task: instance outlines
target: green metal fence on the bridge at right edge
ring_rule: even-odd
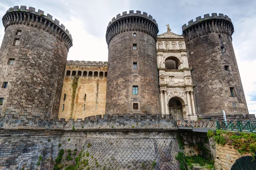
[[[216,121],[217,129],[256,133],[256,121]]]

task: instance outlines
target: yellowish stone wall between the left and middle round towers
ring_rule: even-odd
[[[58,117],[84,119],[93,115],[103,116],[106,105],[107,62],[105,64],[74,62],[76,61],[68,61],[66,65]],[[70,76],[67,76],[67,71],[70,71]],[[76,71],[75,76],[72,76],[73,71]]]

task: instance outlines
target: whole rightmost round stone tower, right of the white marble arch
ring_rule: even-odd
[[[182,26],[200,116],[248,114],[232,45],[234,27],[227,15],[213,13]]]

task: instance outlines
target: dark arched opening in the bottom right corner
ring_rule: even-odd
[[[256,170],[256,160],[253,161],[252,156],[242,156],[236,159],[231,170]]]

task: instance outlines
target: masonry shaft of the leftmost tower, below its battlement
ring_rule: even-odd
[[[21,35],[15,35],[21,30]],[[20,38],[20,45],[13,45]],[[49,32],[28,25],[6,28],[0,48],[1,113],[29,116],[58,116],[67,59],[64,41]],[[8,65],[8,59],[15,59]]]

